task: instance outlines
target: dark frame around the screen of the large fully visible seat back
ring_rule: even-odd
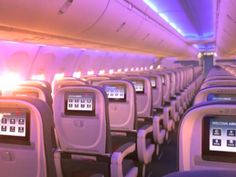
[[[69,95],[91,95],[92,97],[92,111],[83,111],[83,110],[68,110],[67,103],[68,103],[68,96]],[[68,116],[95,116],[96,110],[96,95],[93,92],[66,92],[64,95],[64,114]]]

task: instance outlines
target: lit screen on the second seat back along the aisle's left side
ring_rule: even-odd
[[[110,101],[126,101],[126,87],[124,84],[104,85],[107,97]]]

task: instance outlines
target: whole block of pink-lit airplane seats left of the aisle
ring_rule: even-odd
[[[1,172],[9,177],[145,176],[202,80],[201,67],[185,67],[65,77],[52,87],[25,81],[11,96],[0,97]]]

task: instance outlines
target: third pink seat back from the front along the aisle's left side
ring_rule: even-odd
[[[136,90],[137,116],[148,117],[152,115],[152,86],[148,77],[127,76]]]

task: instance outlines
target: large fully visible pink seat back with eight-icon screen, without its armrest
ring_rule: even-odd
[[[55,93],[54,122],[65,152],[110,153],[106,93],[94,86],[66,86]]]

